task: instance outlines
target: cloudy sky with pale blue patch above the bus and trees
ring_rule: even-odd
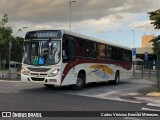
[[[147,12],[160,8],[160,0],[75,0],[71,3],[71,30],[130,48],[141,47],[141,37],[157,36]],[[70,23],[70,0],[0,0],[0,19],[8,14],[7,26],[27,31],[66,29]]]

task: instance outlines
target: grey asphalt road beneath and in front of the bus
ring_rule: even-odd
[[[69,87],[46,88],[40,84],[19,81],[0,81],[0,111],[159,111],[160,107],[149,106],[144,101],[135,101],[126,96],[139,95],[141,89],[155,85],[153,81],[122,80],[119,85],[109,83],[89,84],[84,90],[74,91]],[[145,91],[143,91],[145,93]],[[56,120],[151,120],[159,117],[53,117],[38,119]],[[2,118],[0,118],[2,119]],[[7,118],[5,118],[7,119]],[[10,118],[8,118],[10,119]],[[25,118],[12,118],[25,119]],[[29,118],[35,119],[35,118]]]

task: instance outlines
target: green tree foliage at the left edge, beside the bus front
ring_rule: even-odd
[[[22,59],[23,38],[21,37],[14,38],[14,36],[12,35],[13,32],[12,28],[8,27],[6,25],[7,23],[8,23],[8,15],[4,14],[3,18],[0,21],[0,66],[2,59],[6,59],[7,61],[9,59],[10,41],[12,42],[11,61],[21,62]]]

